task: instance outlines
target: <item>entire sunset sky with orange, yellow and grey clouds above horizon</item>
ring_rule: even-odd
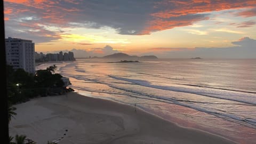
[[[37,52],[256,58],[255,0],[4,0],[4,16]]]

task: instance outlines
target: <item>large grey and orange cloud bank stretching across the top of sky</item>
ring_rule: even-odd
[[[111,27],[122,35],[146,35],[154,31],[192,25],[207,20],[202,12],[255,7],[252,0],[234,1],[30,1],[5,0],[6,36],[49,42],[65,33],[62,28]],[[251,9],[248,13],[254,13]],[[241,15],[246,15],[245,12]],[[247,14],[251,15],[251,14]],[[49,29],[47,27],[58,27]],[[20,30],[20,31],[19,31]],[[31,32],[31,30],[33,32]],[[50,37],[51,36],[51,37]]]

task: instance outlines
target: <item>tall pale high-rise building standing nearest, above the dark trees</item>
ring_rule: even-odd
[[[5,38],[5,47],[7,65],[35,73],[35,43],[31,40],[9,37]]]

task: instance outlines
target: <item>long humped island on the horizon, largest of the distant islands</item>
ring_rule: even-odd
[[[114,53],[110,55],[106,55],[105,57],[102,57],[105,59],[157,59],[155,55],[143,55],[141,57],[138,57],[137,55],[128,55],[126,53]]]

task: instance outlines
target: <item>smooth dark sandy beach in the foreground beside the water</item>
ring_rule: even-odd
[[[59,143],[234,143],[207,132],[180,127],[132,106],[75,92],[15,105],[9,133],[39,144]]]

